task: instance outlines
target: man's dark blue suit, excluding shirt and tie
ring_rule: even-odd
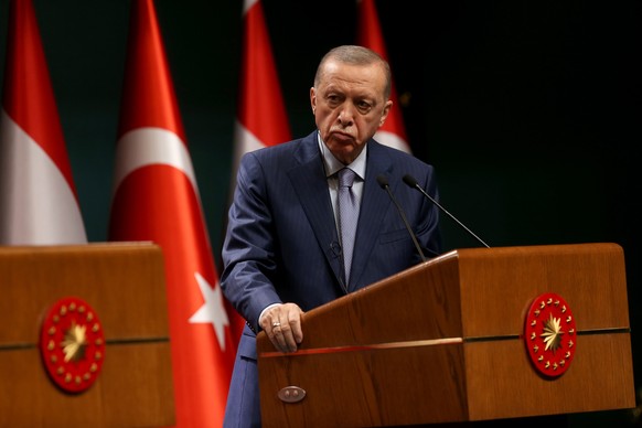
[[[268,304],[295,302],[308,311],[421,261],[377,175],[388,179],[426,257],[440,253],[438,208],[402,181],[409,173],[438,199],[432,167],[375,140],[367,145],[347,286],[341,280],[341,249],[317,131],[242,159],[222,254],[221,287],[247,327],[229,388],[226,427],[259,424],[255,332]]]

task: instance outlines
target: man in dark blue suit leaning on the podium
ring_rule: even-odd
[[[245,318],[227,398],[225,427],[259,427],[256,333],[296,352],[301,315],[432,257],[441,250],[438,208],[404,183],[417,179],[437,199],[431,165],[373,139],[393,101],[386,61],[361,46],[321,60],[310,89],[317,130],[244,156],[223,246],[221,287]],[[338,216],[338,171],[356,173],[359,221],[345,259]],[[421,246],[377,178],[384,176]],[[351,267],[346,277],[344,265]],[[394,320],[394,313],[390,313]]]

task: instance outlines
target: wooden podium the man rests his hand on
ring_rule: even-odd
[[[526,315],[546,293],[566,301],[577,327],[573,361],[555,376],[539,372],[524,338]],[[616,244],[453,250],[307,312],[303,334],[292,354],[275,352],[265,332],[257,336],[264,427],[635,407]]]

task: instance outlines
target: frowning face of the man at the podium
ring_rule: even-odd
[[[393,101],[384,99],[385,74],[378,65],[329,61],[310,89],[314,121],[328,149],[344,164],[352,162],[384,124]]]

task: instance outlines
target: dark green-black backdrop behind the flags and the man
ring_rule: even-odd
[[[4,46],[8,0],[0,4]],[[34,4],[88,237],[106,240],[129,2]],[[242,1],[156,4],[218,263]],[[491,246],[624,248],[640,389],[642,2],[376,4],[413,151],[436,167],[442,205]],[[355,7],[264,0],[264,9],[291,131],[303,136],[313,127],[308,94],[317,62],[355,41]],[[442,229],[445,250],[479,246],[446,216]],[[608,376],[606,367],[596,371]],[[622,410],[570,420],[625,426],[630,417]]]

